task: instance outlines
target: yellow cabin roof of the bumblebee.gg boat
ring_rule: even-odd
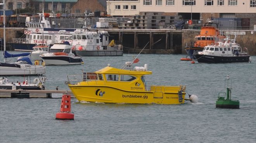
[[[130,71],[126,69],[117,69],[114,67],[104,67],[103,69],[100,69],[99,71],[96,71],[98,73],[104,73],[104,74],[152,74],[152,71]]]

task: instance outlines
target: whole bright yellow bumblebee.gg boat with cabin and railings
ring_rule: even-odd
[[[95,72],[67,76],[67,85],[78,101],[99,103],[183,104],[186,86],[146,86],[144,67],[131,67],[132,62],[117,69],[108,65]],[[74,82],[74,83],[72,83]],[[194,96],[194,95],[193,95]]]

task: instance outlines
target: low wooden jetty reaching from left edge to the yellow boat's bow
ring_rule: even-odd
[[[52,98],[52,93],[66,94],[66,90],[0,89],[0,98]],[[74,98],[71,91],[67,91],[67,94]]]

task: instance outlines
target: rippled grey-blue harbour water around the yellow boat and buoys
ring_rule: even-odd
[[[73,98],[74,120],[60,121],[55,114],[61,95],[54,99],[1,98],[0,142],[255,143],[256,56],[251,56],[252,63],[228,64],[190,64],[180,61],[181,57],[185,55],[142,54],[135,66],[148,64],[153,72],[146,76],[147,86],[186,85],[187,94],[197,95],[199,103],[103,104],[79,103]],[[121,67],[132,55],[83,60],[82,65],[47,66],[46,88],[69,90],[64,84],[66,75],[97,71],[107,64]],[[215,108],[218,93],[226,92],[227,75],[232,79],[232,99],[240,100],[240,109]]]

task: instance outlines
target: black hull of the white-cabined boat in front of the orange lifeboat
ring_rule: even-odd
[[[229,63],[229,62],[249,62],[250,56],[209,56],[209,55],[201,55],[194,54],[194,57],[197,59],[199,63]]]

